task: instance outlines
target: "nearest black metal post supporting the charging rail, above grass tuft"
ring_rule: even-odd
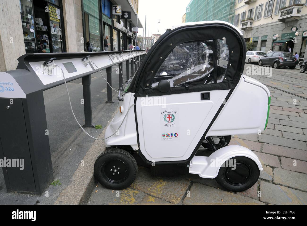
[[[82,127],[95,128],[92,120],[91,75],[82,77],[82,86],[84,100],[84,125]]]

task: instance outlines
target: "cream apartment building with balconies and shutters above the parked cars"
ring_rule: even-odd
[[[234,25],[254,50],[297,52],[307,58],[306,0],[236,0]]]

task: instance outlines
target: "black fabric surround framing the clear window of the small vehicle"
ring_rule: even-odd
[[[191,85],[189,87],[173,87],[166,93],[161,93],[156,88],[150,87],[157,70],[169,53],[179,44],[201,40],[223,40],[229,50],[229,60],[225,77],[226,81],[211,84]],[[215,41],[216,42],[216,41]],[[215,50],[213,50],[215,51]],[[143,59],[136,76],[128,89],[134,92],[136,97],[159,96],[167,94],[198,92],[217,89],[233,89],[243,73],[246,56],[246,44],[243,37],[233,27],[223,23],[212,23],[203,25],[181,26],[174,30],[167,30],[153,45],[145,59]],[[161,58],[162,57],[162,58]],[[216,62],[216,53],[213,61]],[[215,77],[216,81],[216,77]]]

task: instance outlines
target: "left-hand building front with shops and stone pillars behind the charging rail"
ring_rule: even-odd
[[[0,71],[16,69],[26,53],[103,51],[106,36],[108,51],[127,50],[136,45],[136,24],[142,28],[138,0],[11,0],[0,7]]]

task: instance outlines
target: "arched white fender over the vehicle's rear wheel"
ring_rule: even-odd
[[[218,149],[208,157],[194,156],[190,162],[189,173],[198,174],[203,178],[215,178],[223,163],[236,156],[250,158],[258,165],[259,170],[263,170],[257,155],[250,149],[240,145],[228,145]]]

